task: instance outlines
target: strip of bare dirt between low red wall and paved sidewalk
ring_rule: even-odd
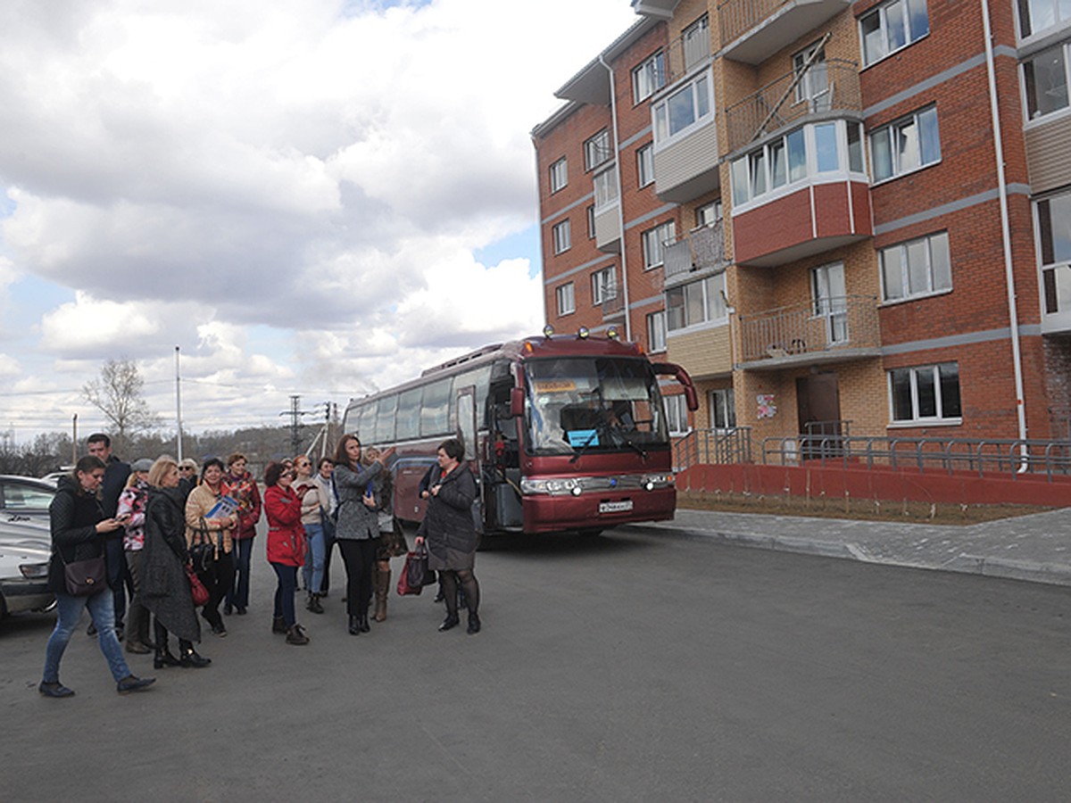
[[[827,497],[765,496],[677,491],[677,506],[725,513],[765,513],[816,518],[854,518],[869,521],[914,521],[935,525],[976,525],[1014,516],[1044,513],[1056,507],[1029,504],[946,504],[904,500],[830,499]]]

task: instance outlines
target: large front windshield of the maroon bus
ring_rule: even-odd
[[[645,452],[667,446],[662,394],[643,359],[525,362],[528,444],[536,454]]]

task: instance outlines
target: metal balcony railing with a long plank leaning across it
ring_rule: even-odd
[[[729,151],[813,115],[861,111],[859,65],[831,59],[793,71],[725,109]]]

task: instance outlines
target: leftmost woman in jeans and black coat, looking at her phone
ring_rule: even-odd
[[[82,457],[70,476],[61,478],[56,496],[48,506],[51,525],[52,557],[48,563],[48,589],[56,594],[56,630],[45,647],[45,671],[37,691],[46,697],[72,697],[74,692],[60,683],[60,660],[71,634],[78,626],[81,612],[89,615],[96,627],[96,641],[108,662],[111,677],[120,693],[138,692],[153,678],[131,675],[122,648],[116,637],[116,610],[107,571],[100,577],[92,593],[74,593],[69,588],[66,569],[74,564],[104,558],[104,535],[123,526],[121,518],[108,518],[101,509],[99,491],[104,481],[104,461],[92,455]],[[86,576],[75,570],[76,575]],[[77,590],[80,591],[80,590]]]

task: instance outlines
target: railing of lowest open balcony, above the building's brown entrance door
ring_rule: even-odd
[[[788,361],[834,350],[878,349],[877,299],[842,296],[740,316],[743,362]]]

